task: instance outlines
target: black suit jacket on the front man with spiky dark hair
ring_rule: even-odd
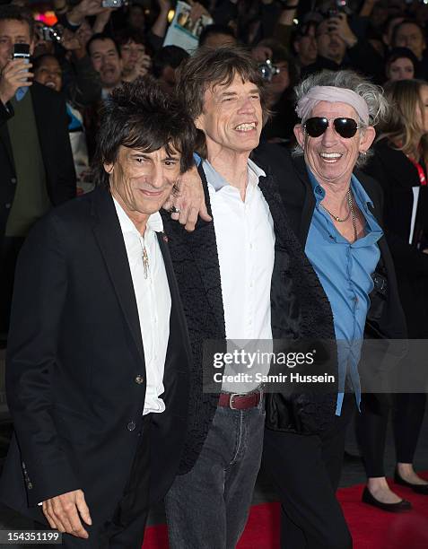
[[[169,488],[188,414],[190,348],[164,235],[170,284],[166,410],[153,414],[151,500]],[[143,376],[144,382],[137,379]],[[37,505],[83,489],[94,523],[122,496],[141,430],[144,349],[127,251],[107,190],[59,206],[31,231],[18,261],[6,356],[13,438],[1,500]]]

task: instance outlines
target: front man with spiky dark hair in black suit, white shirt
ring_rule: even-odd
[[[179,465],[190,351],[158,210],[195,135],[152,80],[116,90],[99,186],[38,222],[18,260],[1,497],[67,547],[141,546]]]

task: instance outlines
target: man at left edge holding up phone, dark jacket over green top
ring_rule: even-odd
[[[75,196],[66,103],[31,83],[14,44],[34,48],[34,21],[17,5],[0,9],[0,333],[7,331],[16,257],[31,225]],[[30,79],[30,80],[29,80]],[[31,85],[32,84],[32,85]]]

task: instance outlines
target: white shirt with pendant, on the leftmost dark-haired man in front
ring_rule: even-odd
[[[165,403],[163,371],[170,338],[170,286],[156,232],[163,230],[159,212],[147,221],[144,236],[136,230],[127,213],[114,200],[120,228],[127,248],[127,260],[134,284],[135,300],[143,339],[146,390],[144,415],[161,413]],[[148,267],[144,272],[143,250],[147,252]]]

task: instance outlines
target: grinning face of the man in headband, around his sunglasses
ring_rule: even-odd
[[[354,118],[359,122],[354,107],[338,102],[319,101],[312,109],[310,117]],[[330,120],[328,129],[319,137],[307,135],[300,124],[294,127],[294,135],[303,149],[306,163],[319,183],[347,184],[358,154],[369,149],[375,131],[368,126],[363,131],[358,129],[354,137],[346,139],[336,133],[333,120]]]

